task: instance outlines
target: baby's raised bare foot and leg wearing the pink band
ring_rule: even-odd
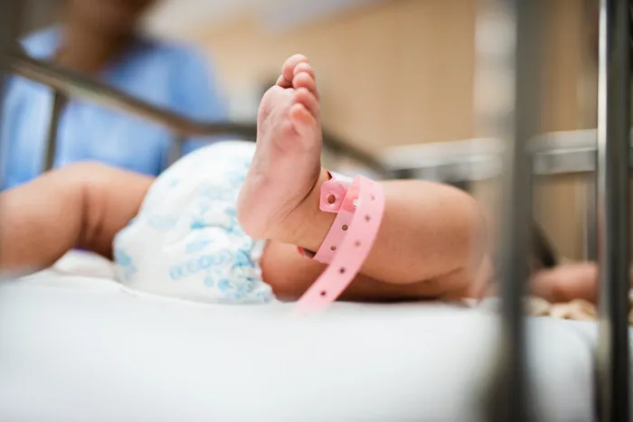
[[[241,190],[241,224],[254,238],[316,251],[335,215],[318,209],[320,187],[328,176],[320,163],[314,71],[305,58],[295,56],[284,65],[278,85],[262,99],[258,125],[257,150]],[[467,291],[484,255],[484,219],[477,203],[436,183],[394,181],[383,188],[383,224],[362,269],[364,279],[426,283],[427,291],[438,295]],[[270,259],[275,256],[280,262],[269,264],[274,271],[270,277],[279,275],[275,267],[296,262],[280,253]],[[266,273],[266,263],[262,267]],[[315,274],[307,278],[314,280]],[[265,281],[274,286],[279,280]]]

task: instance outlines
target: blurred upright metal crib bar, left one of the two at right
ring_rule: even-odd
[[[487,420],[499,422],[534,419],[523,296],[530,273],[533,196],[527,146],[538,131],[542,9],[542,0],[488,1],[477,23],[479,123],[505,146],[497,251],[501,339],[486,407]]]

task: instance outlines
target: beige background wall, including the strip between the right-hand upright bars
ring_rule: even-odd
[[[581,0],[551,0],[543,23],[543,130],[590,127],[594,98],[581,96],[586,34]],[[385,0],[288,31],[243,15],[198,33],[229,93],[279,72],[288,55],[313,62],[324,123],[377,151],[477,136],[473,112],[475,0]],[[587,79],[584,79],[585,83]],[[588,117],[589,116],[589,117]],[[567,256],[581,251],[578,181],[538,183],[535,211]]]

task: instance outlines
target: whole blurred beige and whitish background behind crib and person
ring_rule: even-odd
[[[26,3],[23,33],[52,24],[61,1]],[[543,132],[596,126],[596,3],[548,2]],[[144,24],[213,58],[231,119],[254,119],[284,59],[307,55],[324,126],[380,155],[477,137],[477,7],[476,0],[163,0]],[[582,253],[583,184],[570,175],[537,186],[537,218],[569,258]]]

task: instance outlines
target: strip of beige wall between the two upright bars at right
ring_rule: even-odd
[[[554,0],[545,26],[543,131],[595,126],[595,98],[582,89],[591,68],[590,33],[582,0]],[[559,176],[536,183],[535,214],[555,247],[570,258],[582,252],[584,178]]]

